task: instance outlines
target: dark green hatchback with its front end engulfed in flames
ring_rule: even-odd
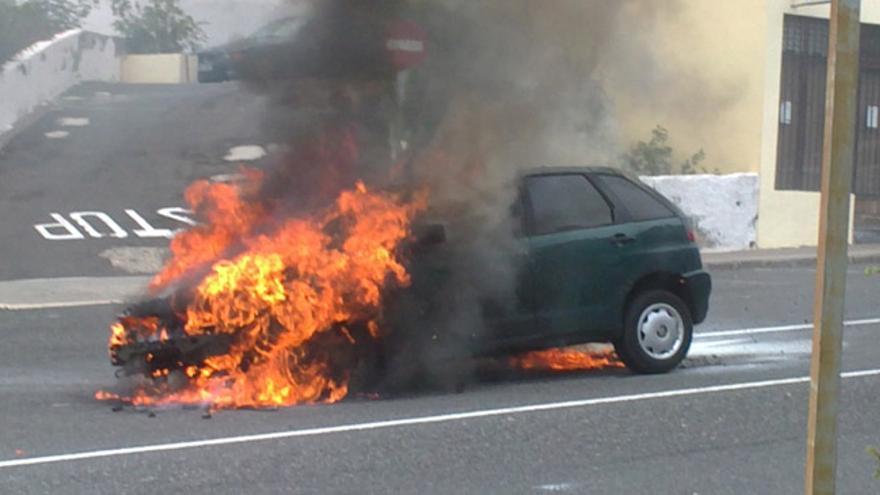
[[[688,221],[613,169],[543,168],[511,184],[509,242],[470,270],[471,280],[492,278],[493,264],[510,276],[478,298],[453,268],[468,239],[454,218],[428,222],[422,194],[358,184],[320,215],[279,224],[244,199],[247,186],[188,191],[206,223],[173,240],[157,297],[112,328],[113,364],[153,379],[124,399],[333,402],[357,373],[585,342],[611,342],[631,370],[661,373],[684,359],[708,310]],[[460,318],[459,298],[477,299],[476,319]]]

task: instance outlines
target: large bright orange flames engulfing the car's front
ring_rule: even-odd
[[[318,214],[279,221],[248,199],[261,180],[249,171],[237,185],[194,183],[185,198],[204,223],[174,238],[171,260],[151,283],[154,292],[180,291],[178,284],[197,280],[178,315],[183,333],[229,336],[229,351],[183,369],[182,386],[157,380],[124,397],[96,397],[227,408],[335,402],[347,394],[351,366],[340,356],[357,345],[348,328],[378,337],[383,289],[409,283],[398,247],[424,197],[405,201],[358,183]],[[167,335],[155,318],[123,323],[111,329],[111,354]]]

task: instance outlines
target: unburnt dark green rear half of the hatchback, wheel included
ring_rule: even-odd
[[[534,192],[541,187],[546,189],[543,200]],[[467,349],[476,355],[613,342],[636,371],[662,372],[675,367],[690,346],[693,324],[706,318],[712,285],[685,216],[638,179],[614,169],[542,168],[522,174],[518,188],[517,204],[512,208],[517,231],[513,248],[516,276],[512,280],[515,287],[509,291],[510,299],[515,300],[481,301],[483,329],[460,331],[455,338],[469,339]],[[589,193],[592,202],[585,202],[581,216],[588,216],[588,209],[595,207],[601,218],[577,221],[573,217],[571,225],[548,226],[565,223],[567,219],[554,218],[554,214],[567,215],[562,210],[567,204],[577,209],[577,197],[569,201],[565,195],[580,189]],[[552,208],[538,204],[541,201],[558,203],[555,213],[547,213]],[[404,305],[410,314],[404,326],[424,331],[426,325],[436,325],[433,322],[442,319],[434,315],[450,311],[444,299],[468,297],[459,294],[457,287],[438,289],[443,286],[441,280],[453,273],[448,258],[453,255],[443,252],[438,246],[436,251],[428,249],[415,256],[413,287],[408,291],[418,294],[415,299],[422,303],[419,306],[412,297],[407,298]],[[634,304],[641,306],[634,308]],[[419,306],[415,312],[413,305]],[[675,344],[674,355],[659,360],[642,356],[645,362],[640,363],[639,356],[626,355],[633,351],[628,351],[627,345],[633,347],[633,342],[644,340],[645,328],[653,325],[663,331],[666,324],[650,312],[647,316],[631,315],[650,308],[679,316],[682,341]],[[660,316],[665,318],[665,313]],[[628,323],[628,318],[636,323]],[[441,326],[428,329],[434,341],[448,338],[445,334],[454,325]],[[642,339],[636,335],[632,337],[635,341],[627,344],[628,326]],[[637,349],[633,351],[636,354]]]

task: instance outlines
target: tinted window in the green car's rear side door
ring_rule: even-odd
[[[608,202],[584,175],[538,175],[526,178],[525,185],[532,235],[613,223]]]

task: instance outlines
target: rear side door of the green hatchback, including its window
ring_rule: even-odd
[[[535,337],[603,338],[617,315],[607,304],[620,266],[612,206],[581,173],[525,178]]]

